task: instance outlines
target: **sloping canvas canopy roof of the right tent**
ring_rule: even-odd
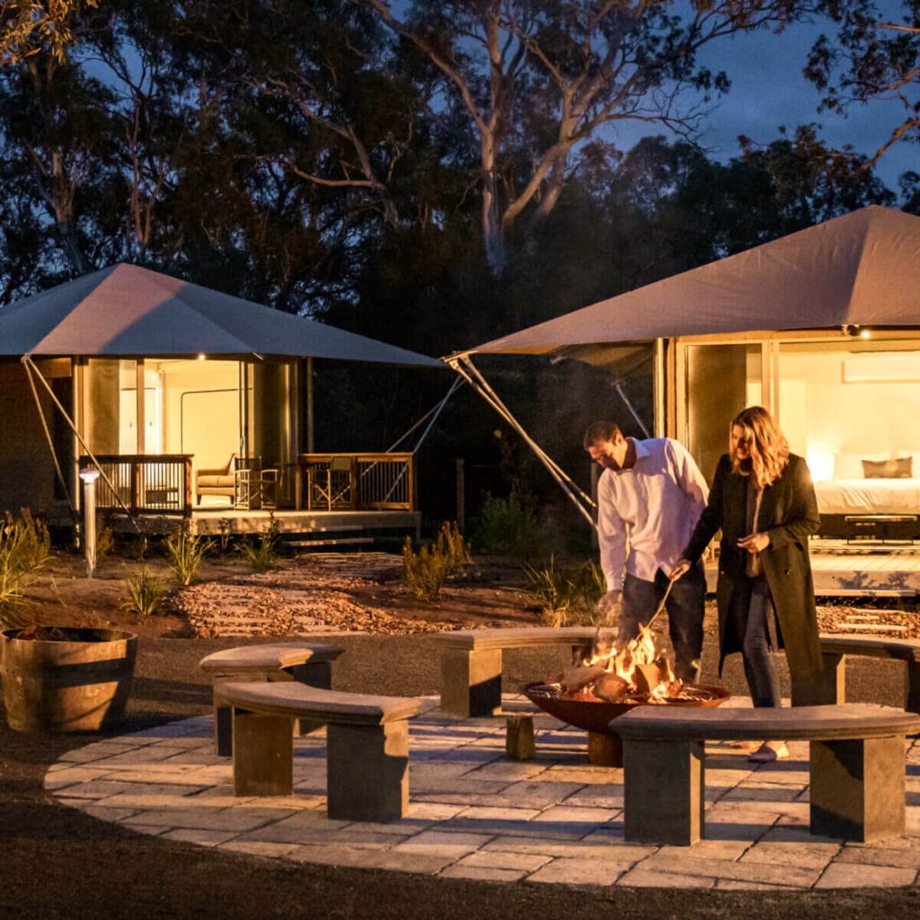
[[[920,217],[862,208],[461,353],[844,325],[920,327]]]

